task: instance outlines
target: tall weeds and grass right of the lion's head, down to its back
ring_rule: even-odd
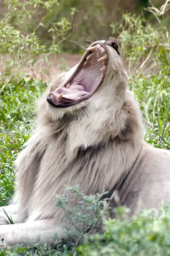
[[[136,94],[146,124],[144,139],[170,149],[170,31],[154,28],[142,15],[124,14],[119,32],[130,89]]]

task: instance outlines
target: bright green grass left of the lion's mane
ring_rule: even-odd
[[[13,164],[34,129],[34,102],[45,83],[22,79],[8,84],[0,97],[0,206],[14,191]]]

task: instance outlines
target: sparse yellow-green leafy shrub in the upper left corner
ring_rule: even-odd
[[[60,44],[72,33],[73,17],[77,12],[75,8],[71,8],[70,20],[62,17],[58,22],[51,24],[48,33],[52,41],[47,51],[47,46],[40,44],[37,29],[44,26],[43,22],[48,12],[51,12],[53,7],[59,3],[54,0],[29,0],[22,3],[19,0],[6,0],[6,2],[9,11],[5,18],[0,20],[0,56],[2,59],[0,61],[2,70],[0,93],[10,81],[14,83],[17,79],[23,79],[23,77],[28,79],[30,76],[37,78],[36,67],[39,68],[39,75],[44,79],[45,69],[42,64],[45,62],[48,66],[48,57],[60,52]],[[35,16],[40,8],[45,10],[45,15],[40,20],[36,20]]]

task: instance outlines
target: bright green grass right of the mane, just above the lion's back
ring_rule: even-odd
[[[144,117],[144,140],[155,147],[170,149],[170,78],[141,75],[130,87]]]

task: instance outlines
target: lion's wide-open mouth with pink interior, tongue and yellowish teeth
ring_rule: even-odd
[[[102,85],[107,62],[108,55],[100,44],[89,47],[71,77],[56,90],[51,86],[48,103],[65,108],[90,98]]]

